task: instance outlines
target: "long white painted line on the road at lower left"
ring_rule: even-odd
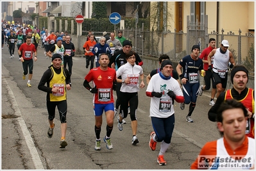
[[[13,106],[13,109],[15,110],[15,115],[18,117],[17,120],[19,122],[19,125],[21,126],[21,130],[22,130],[22,133],[24,135],[24,139],[26,141],[28,149],[30,150],[31,159],[34,163],[35,169],[44,170],[44,166],[42,165],[42,161],[39,157],[37,149],[35,148],[35,143],[33,143],[30,131],[28,131],[28,128],[26,127],[26,123],[22,118],[21,111],[19,110],[19,106],[17,104],[17,101],[15,100],[12,89],[8,85],[6,79],[3,79],[3,77],[2,77],[2,81],[6,85],[8,95],[10,95],[10,98],[12,98],[12,106]]]

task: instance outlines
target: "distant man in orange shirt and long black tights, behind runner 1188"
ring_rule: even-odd
[[[93,69],[94,67],[94,54],[92,53],[92,49],[94,48],[94,45],[96,45],[96,42],[94,40],[94,35],[89,35],[90,40],[86,41],[83,45],[83,49],[85,51],[85,58],[86,58],[86,68],[88,69],[90,65],[90,69]]]

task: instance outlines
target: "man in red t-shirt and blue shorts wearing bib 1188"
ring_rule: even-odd
[[[101,150],[101,125],[102,125],[102,114],[105,111],[107,119],[107,134],[104,137],[104,142],[107,143],[107,149],[113,149],[113,145],[110,141],[110,134],[112,133],[114,123],[114,95],[113,90],[116,90],[116,74],[115,70],[108,67],[109,58],[108,55],[102,53],[99,55],[99,67],[91,69],[87,76],[83,86],[87,88],[93,94],[94,104],[94,116],[95,116],[95,133],[96,143],[94,149],[96,151]],[[90,87],[89,83],[92,81],[93,88]]]

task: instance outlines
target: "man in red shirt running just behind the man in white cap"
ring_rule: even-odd
[[[209,90],[210,89],[210,79],[213,79],[212,76],[212,71],[208,70],[208,61],[207,61],[207,57],[208,54],[212,51],[212,49],[216,48],[216,40],[215,38],[210,38],[209,39],[209,47],[205,48],[203,50],[203,52],[201,53],[201,55],[199,56],[199,58],[201,58],[201,60],[203,60],[203,70],[205,70],[205,85],[201,85],[201,87],[199,88],[200,92],[203,93],[203,90]],[[212,65],[213,65],[213,57],[212,57]],[[216,94],[216,85],[214,84],[214,81],[212,81],[212,94],[210,97],[210,103],[209,105],[214,106],[214,96]]]

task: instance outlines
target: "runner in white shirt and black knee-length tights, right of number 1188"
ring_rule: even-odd
[[[117,78],[117,83],[122,83],[119,98],[121,107],[119,114],[119,120],[117,127],[119,131],[123,130],[123,118],[126,118],[128,115],[128,104],[130,102],[130,118],[132,120],[132,144],[136,145],[139,143],[137,138],[137,108],[138,108],[138,92],[139,88],[144,88],[144,74],[142,67],[135,64],[135,52],[130,51],[125,54],[126,64],[122,65],[117,70],[117,77],[121,76],[121,79]],[[139,83],[141,80],[141,83]]]

